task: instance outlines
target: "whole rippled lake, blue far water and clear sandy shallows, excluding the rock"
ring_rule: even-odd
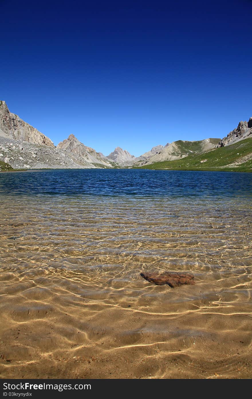
[[[13,172],[0,196],[1,376],[252,377],[252,174]]]

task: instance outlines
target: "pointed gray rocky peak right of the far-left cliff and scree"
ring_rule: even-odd
[[[80,164],[101,164],[111,167],[109,160],[103,154],[99,154],[94,148],[87,147],[82,144],[73,134],[57,145],[57,148],[64,150],[68,154],[72,154]]]

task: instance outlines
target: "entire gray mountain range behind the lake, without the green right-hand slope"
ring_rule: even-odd
[[[127,150],[117,147],[105,156],[82,144],[73,134],[55,147],[47,136],[21,120],[18,115],[11,113],[5,101],[0,101],[0,166],[9,164],[12,168],[148,167],[229,146],[250,137],[251,134],[252,118],[248,122],[240,122],[237,128],[223,139],[178,140],[165,146],[155,146],[137,158]]]

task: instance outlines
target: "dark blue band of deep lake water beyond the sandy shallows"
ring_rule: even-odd
[[[252,196],[252,174],[168,170],[64,169],[0,174],[0,195]]]

